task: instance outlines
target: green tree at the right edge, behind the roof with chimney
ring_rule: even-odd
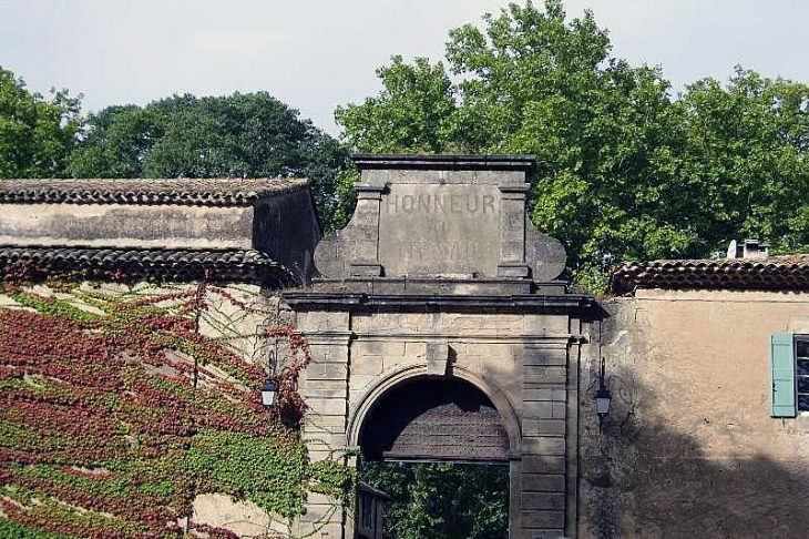
[[[809,247],[809,87],[736,68],[725,88],[705,79],[678,103],[687,121],[680,177],[705,252],[734,237],[777,252]]]

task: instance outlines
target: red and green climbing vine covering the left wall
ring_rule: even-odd
[[[1,537],[227,538],[193,521],[198,495],[284,522],[308,491],[345,499],[351,472],[309,464],[299,437],[309,350],[277,303],[204,282],[30,277],[14,266],[0,281]],[[243,330],[256,319],[272,324]],[[285,350],[272,413],[259,393],[268,342]]]

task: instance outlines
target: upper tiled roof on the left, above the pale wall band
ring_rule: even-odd
[[[245,206],[307,185],[290,177],[0,180],[0,203]]]

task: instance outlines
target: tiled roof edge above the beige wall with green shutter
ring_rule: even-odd
[[[768,258],[624,262],[610,273],[610,289],[809,289],[809,255]]]

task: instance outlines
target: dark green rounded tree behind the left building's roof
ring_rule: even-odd
[[[174,95],[88,118],[71,155],[79,177],[291,177],[311,183],[325,228],[334,227],[336,174],[348,154],[298,111],[266,92]]]

